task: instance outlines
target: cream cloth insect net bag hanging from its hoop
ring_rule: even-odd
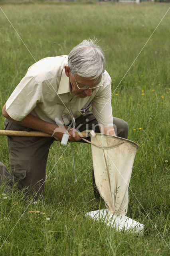
[[[109,212],[125,216],[128,186],[138,144],[130,140],[95,133],[91,150],[95,183]]]

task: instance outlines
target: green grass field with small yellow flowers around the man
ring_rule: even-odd
[[[127,216],[145,229],[142,235],[117,232],[86,219],[85,212],[104,207],[93,195],[90,146],[73,144],[75,183],[71,147],[54,142],[43,201],[30,204],[16,194],[3,196],[0,189],[0,255],[169,255],[170,11],[126,74],[169,7],[151,2],[1,4],[34,56],[0,10],[1,109],[35,60],[68,54],[83,39],[100,40],[113,92],[119,85],[113,115],[128,122],[129,139],[139,144]],[[3,122],[0,114],[0,129]],[[9,168],[5,137],[0,138],[0,161]]]

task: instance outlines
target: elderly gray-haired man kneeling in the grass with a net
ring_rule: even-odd
[[[89,110],[92,106],[91,111]],[[91,39],[75,46],[69,56],[44,58],[30,68],[2,109],[6,130],[42,131],[51,137],[8,136],[10,173],[1,163],[0,174],[18,190],[43,192],[49,148],[69,128],[69,141],[86,129],[127,138],[127,122],[113,118],[111,78],[101,48]],[[114,123],[114,126],[113,126]]]

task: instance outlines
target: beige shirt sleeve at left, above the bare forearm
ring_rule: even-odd
[[[33,76],[21,80],[6,102],[6,112],[16,121],[21,121],[41,102],[40,85]]]

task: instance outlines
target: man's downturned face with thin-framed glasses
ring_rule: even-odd
[[[68,76],[70,78],[70,84],[71,84],[71,88],[72,88],[72,92],[77,95],[77,97],[79,98],[85,98],[87,96],[91,96],[92,92],[95,89],[79,89],[77,87],[77,85],[79,87],[93,87],[93,86],[97,86],[99,84],[99,81],[95,81],[95,79],[87,79],[87,78],[83,78],[81,76],[75,75],[73,76],[69,66],[65,66],[65,74],[66,76]],[[76,80],[75,80],[76,79]],[[77,84],[76,84],[77,82]]]

